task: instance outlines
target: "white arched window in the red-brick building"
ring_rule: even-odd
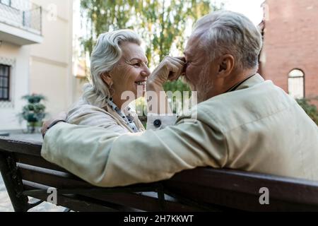
[[[295,99],[305,97],[305,74],[299,69],[294,69],[288,74],[288,93]]]

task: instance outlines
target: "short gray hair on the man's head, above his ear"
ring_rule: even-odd
[[[258,66],[262,38],[257,27],[246,16],[232,11],[216,11],[199,19],[194,35],[211,60],[232,54],[240,69]]]

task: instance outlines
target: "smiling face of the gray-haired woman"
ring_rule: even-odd
[[[146,81],[151,73],[147,67],[147,58],[138,44],[123,42],[120,47],[122,58],[110,71],[114,95],[118,98],[125,91],[131,91],[135,98],[141,97],[146,93]]]

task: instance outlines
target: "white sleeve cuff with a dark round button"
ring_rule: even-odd
[[[167,126],[172,126],[177,121],[177,114],[148,114],[147,130],[160,130]]]

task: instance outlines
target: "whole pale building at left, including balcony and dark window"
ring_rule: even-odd
[[[45,95],[49,115],[74,101],[71,0],[0,0],[0,131],[23,129],[23,95]]]

